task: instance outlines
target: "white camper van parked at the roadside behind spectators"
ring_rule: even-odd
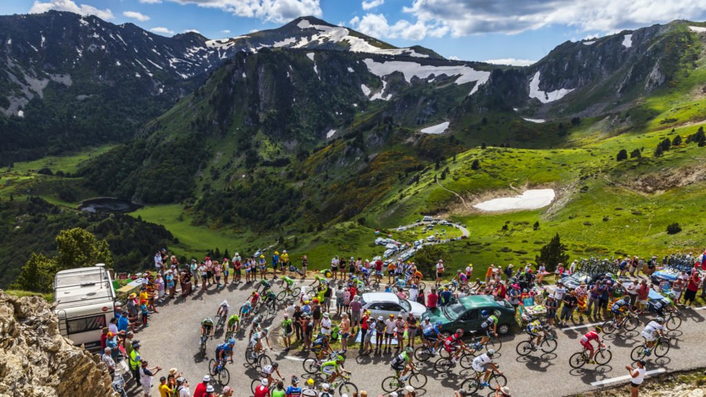
[[[101,330],[113,317],[115,292],[104,266],[63,270],[54,278],[59,332],[88,350],[100,350]]]

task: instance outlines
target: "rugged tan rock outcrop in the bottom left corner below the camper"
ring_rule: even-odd
[[[0,396],[116,396],[98,356],[71,345],[58,323],[41,297],[0,290]]]

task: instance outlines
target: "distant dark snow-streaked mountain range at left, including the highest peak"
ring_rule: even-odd
[[[428,49],[397,49],[312,17],[208,40],[194,32],[163,37],[131,23],[49,11],[0,16],[0,43],[0,165],[127,141],[238,52],[297,47],[441,59]]]

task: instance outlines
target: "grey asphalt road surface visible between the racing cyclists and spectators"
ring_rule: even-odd
[[[305,281],[306,285],[311,281]],[[300,284],[301,285],[301,284]],[[275,287],[275,291],[280,288]],[[191,381],[191,389],[196,386],[205,374],[208,373],[208,360],[213,357],[216,340],[210,340],[206,356],[198,352],[198,339],[201,320],[207,316],[215,316],[218,304],[227,299],[231,307],[239,307],[244,302],[249,292],[250,285],[229,285],[216,291],[212,286],[208,292],[184,298],[158,307],[159,313],[153,314],[150,326],[136,334],[143,345],[143,357],[150,360],[150,365],[160,365],[166,374],[170,367],[177,367],[184,372],[184,376]],[[650,371],[671,372],[680,369],[691,369],[703,365],[702,330],[706,307],[683,310],[683,324],[677,331],[671,333],[672,346],[669,355],[655,359],[651,357],[647,363],[648,374]],[[275,319],[279,324],[281,314]],[[641,317],[643,323],[647,317]],[[279,327],[271,327],[279,335]],[[556,329],[558,348],[551,354],[541,351],[532,353],[529,357],[519,357],[515,352],[515,345],[527,336],[505,336],[503,347],[495,360],[500,369],[508,377],[508,387],[513,391],[513,396],[572,396],[576,393],[592,391],[604,386],[614,386],[620,382],[627,382],[628,373],[624,368],[630,364],[630,351],[642,343],[638,327],[626,336],[605,336],[606,343],[611,346],[613,359],[608,365],[597,367],[586,365],[583,369],[571,369],[568,357],[580,351],[578,339],[587,331],[586,326],[567,327]],[[216,334],[222,339],[222,334]],[[301,367],[302,355],[298,350],[291,352],[282,351],[277,343],[275,350],[268,353],[273,360],[280,362],[280,372],[289,379],[292,374],[300,378],[304,375]],[[229,386],[237,390],[237,396],[249,396],[250,384],[257,374],[254,369],[244,362],[245,341],[243,337],[236,343],[234,364],[229,364],[231,381]],[[383,393],[381,381],[392,374],[389,362],[393,354],[381,356],[358,356],[357,345],[347,354],[346,367],[353,372],[352,381],[360,390],[366,390],[370,396]],[[426,365],[421,365],[429,381],[424,389],[419,390],[419,395],[426,396],[453,396],[453,390],[469,376],[472,370],[457,367],[447,374],[438,374],[433,370],[433,360]],[[159,375],[157,375],[158,379]],[[649,381],[649,377],[648,377]],[[158,384],[158,382],[155,381]],[[153,386],[152,396],[159,393]],[[480,393],[486,396],[489,391]]]

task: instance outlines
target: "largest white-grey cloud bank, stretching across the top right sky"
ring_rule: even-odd
[[[675,19],[702,20],[705,10],[706,0],[414,0],[403,8],[418,22],[441,24],[454,36],[516,34],[549,25],[614,32]]]

